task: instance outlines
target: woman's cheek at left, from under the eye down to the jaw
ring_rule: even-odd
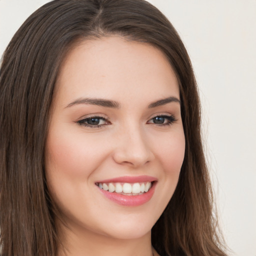
[[[64,215],[84,212],[88,189],[94,182],[91,175],[107,155],[93,136],[68,129],[49,130],[45,150],[45,171],[49,191]],[[91,197],[91,196],[90,196]],[[80,207],[77,207],[80,205]],[[81,213],[82,215],[82,213]]]

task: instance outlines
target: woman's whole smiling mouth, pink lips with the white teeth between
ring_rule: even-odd
[[[152,176],[123,176],[95,182],[108,199],[126,206],[138,206],[150,200],[157,179]]]

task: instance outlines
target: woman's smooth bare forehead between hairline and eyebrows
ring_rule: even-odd
[[[121,100],[123,95],[143,95],[149,101],[179,97],[176,76],[159,49],[117,36],[84,40],[71,48],[56,87],[63,101],[78,96]]]

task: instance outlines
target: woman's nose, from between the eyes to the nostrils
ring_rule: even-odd
[[[145,132],[138,126],[129,125],[122,129],[116,140],[113,151],[115,162],[137,168],[154,159]]]

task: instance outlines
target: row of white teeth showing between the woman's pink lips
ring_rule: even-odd
[[[140,194],[147,192],[151,187],[151,182],[141,183],[96,183],[99,188],[108,190],[109,192]]]

